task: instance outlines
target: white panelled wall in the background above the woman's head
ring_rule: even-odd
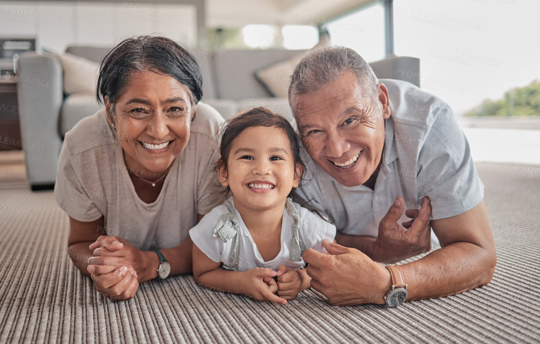
[[[197,9],[190,4],[0,1],[0,38],[36,37],[38,49],[113,46],[159,33],[197,45]]]

